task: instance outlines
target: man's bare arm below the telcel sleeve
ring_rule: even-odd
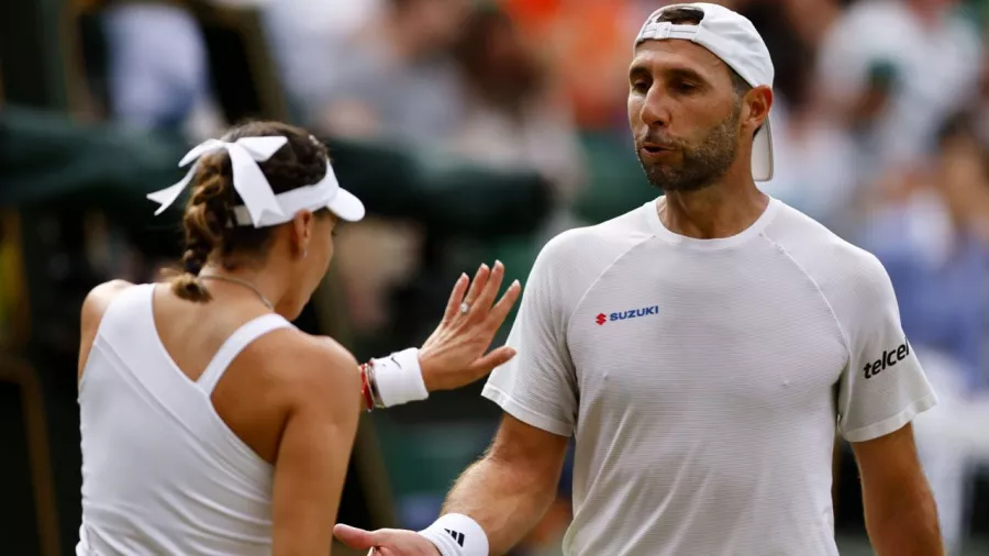
[[[944,544],[934,497],[905,426],[852,443],[862,474],[866,529],[879,556],[940,556]]]

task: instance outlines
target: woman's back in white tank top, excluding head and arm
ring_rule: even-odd
[[[274,313],[216,309],[154,285],[109,303],[79,385],[77,554],[270,554],[285,418],[264,360],[298,334],[273,332],[291,327]]]

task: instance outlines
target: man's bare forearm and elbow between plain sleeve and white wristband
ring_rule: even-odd
[[[553,503],[568,438],[505,414],[490,449],[457,480],[443,513],[460,513],[485,530],[491,554],[504,554]]]

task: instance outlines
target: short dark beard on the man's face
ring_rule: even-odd
[[[738,103],[732,110],[732,115],[711,129],[699,144],[673,142],[671,146],[682,156],[682,164],[679,166],[648,165],[642,159],[643,142],[669,143],[668,141],[652,132],[636,140],[635,154],[649,184],[664,191],[697,191],[723,176],[735,160],[741,109]]]

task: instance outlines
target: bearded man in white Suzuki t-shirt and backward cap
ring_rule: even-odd
[[[338,525],[382,555],[503,554],[552,501],[576,438],[569,556],[834,556],[836,431],[879,555],[943,554],[910,422],[936,402],[886,270],[763,194],[773,64],[752,23],[653,13],[629,118],[666,196],[543,249],[485,388],[488,454],[414,533]]]

